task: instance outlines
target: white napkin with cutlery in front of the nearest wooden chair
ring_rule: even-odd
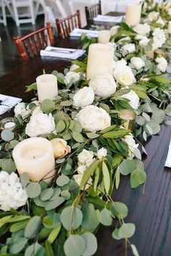
[[[57,57],[62,59],[78,59],[84,54],[81,49],[69,49],[61,47],[47,46],[46,49],[41,50],[41,56]]]

